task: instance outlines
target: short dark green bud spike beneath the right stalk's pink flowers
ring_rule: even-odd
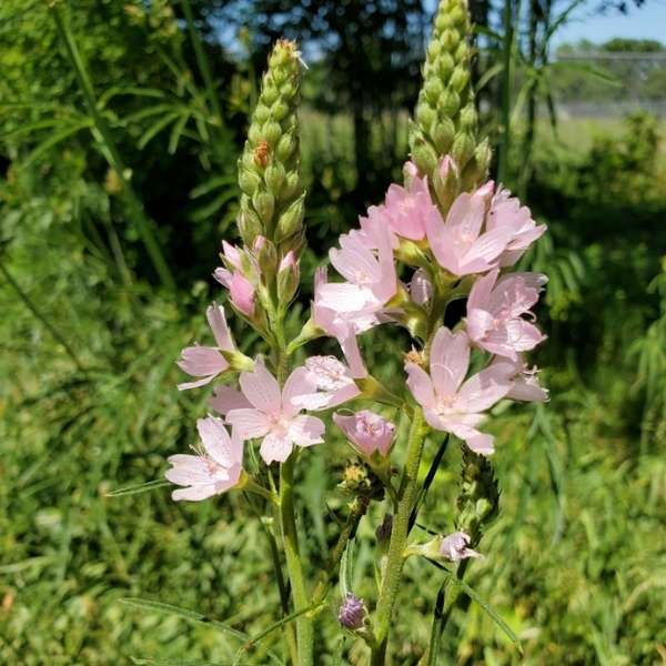
[[[500,511],[500,487],[491,462],[468,448],[463,450],[461,492],[457,497],[457,528],[470,535],[466,545],[478,544],[482,529]]]

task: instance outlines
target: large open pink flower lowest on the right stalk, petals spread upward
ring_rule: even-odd
[[[502,364],[490,365],[463,383],[468,367],[467,335],[442,326],[431,347],[430,375],[420,365],[407,363],[407,385],[432,427],[452,433],[472,451],[488,455],[494,451],[494,438],[476,426],[484,420],[483,411],[511,391],[512,370]]]

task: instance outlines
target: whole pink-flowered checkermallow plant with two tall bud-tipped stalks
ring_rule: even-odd
[[[385,516],[375,525],[376,576],[367,582],[369,589],[376,583],[376,601],[366,605],[345,592],[337,618],[365,640],[374,666],[386,663],[404,559],[422,555],[462,577],[480,556],[484,526],[498,513],[495,441],[481,430],[488,411],[500,401],[548,398],[525,359],[545,339],[533,309],[546,278],[511,271],[546,228],[487,180],[490,149],[477,138],[468,31],[464,0],[442,0],[404,181],[391,184],[330,250],[336,274],[315,269],[310,315],[302,319],[305,304],[293,305],[305,243],[296,114],[303,64],[293,42],[274,47],[239,161],[242,243],[223,241],[223,265],[214,273],[231,309],[253,329],[256,347],[252,357],[241,353],[224,310],[213,304],[206,316],[215,346],[189,346],[179,361],[194,377],[180,387],[212,385],[208,405],[218,416],[198,422],[198,455],[169,458],[167,478],[183,486],[173,497],[201,501],[236,488],[243,491],[241,505],[248,493],[265,501],[264,509],[253,501],[251,511],[266,514],[275,579],[290,582],[290,595],[280,586],[282,612],[294,614],[295,632],[290,625],[284,633],[300,666],[314,664],[314,617],[339,569],[346,581],[359,523],[373,515]],[[465,297],[466,316],[456,321],[448,305]],[[393,376],[377,372],[376,354],[364,354],[364,339],[380,326],[392,340],[384,350],[404,343],[404,372]],[[395,335],[396,327],[405,331]],[[333,345],[326,355],[303,354],[321,337]],[[434,466],[424,473],[422,456],[444,437],[463,444],[455,532],[421,543],[411,529],[436,481]],[[324,452],[336,455],[332,444],[343,438],[356,455],[337,490],[351,500],[311,585],[296,522],[296,466]],[[442,452],[444,444],[438,446]],[[428,457],[443,460],[441,453]],[[333,491],[330,476],[316,480],[322,494]],[[370,512],[372,503],[385,504]],[[442,617],[457,594],[460,586],[447,589]]]

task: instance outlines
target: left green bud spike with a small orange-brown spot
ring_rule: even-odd
[[[283,254],[297,252],[303,244],[304,192],[296,117],[302,70],[296,44],[280,40],[269,57],[239,160],[241,236],[252,246],[258,235],[264,235],[282,245]]]

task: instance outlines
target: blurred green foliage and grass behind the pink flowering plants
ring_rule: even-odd
[[[262,11],[271,4],[262,2]],[[302,4],[312,11],[316,3]],[[332,239],[398,176],[407,151],[423,17],[414,3],[373,6],[386,12],[373,16],[373,26],[389,30],[386,17],[405,7],[414,23],[386,37],[374,59],[372,31],[347,43],[351,60],[337,80],[330,75],[337,41],[311,62],[302,111],[306,280]],[[173,604],[249,635],[280,617],[262,523],[242,496],[183,506],[167,488],[107,495],[160,478],[165,457],[194,441],[206,396],[175,391],[174,360],[192,339],[204,341],[200,313],[221,297],[206,275],[220,238],[231,232],[235,160],[262,67],[259,33],[242,36],[236,51],[219,46],[215,17],[230,11],[226,3],[192,2],[190,22],[184,7],[81,0],[65,14],[99,111],[157,223],[180,285],[171,292],[154,285],[46,3],[0,4],[3,664],[229,664],[240,647],[208,622],[121,597]],[[335,34],[353,42],[349,31],[366,29],[359,11],[369,7],[340,3]],[[317,44],[331,24],[321,24]],[[387,62],[397,39],[404,50]],[[357,118],[345,104],[357,93],[356,72],[370,98],[360,110],[362,158]],[[663,129],[645,114],[626,123],[619,134],[602,128],[588,148],[574,141],[575,150],[561,140],[566,123],[557,134],[541,129],[526,181],[526,127],[514,128],[509,182],[522,183],[551,229],[525,266],[551,278],[539,312],[551,340],[537,361],[553,401],[495,410],[502,513],[482,542],[488,556],[470,578],[518,635],[524,655],[472,603],[444,637],[461,664],[615,666],[654,664],[664,654],[666,172]],[[372,179],[365,183],[363,163]],[[309,297],[306,286],[294,326]],[[253,343],[236,339],[243,349]],[[386,382],[401,376],[402,342],[381,330],[363,339]],[[428,442],[426,458],[438,444]],[[333,436],[304,458],[300,521],[313,569],[339,529],[344,497],[334,486],[349,456]],[[460,453],[450,447],[420,529],[452,527],[458,468]],[[351,572],[360,596],[374,594],[381,521],[373,507],[360,527]],[[406,575],[396,664],[415,664],[427,644],[438,586],[427,564],[410,561]],[[362,664],[362,646],[340,638],[335,599],[321,616],[320,648]],[[279,632],[266,637],[248,663],[270,663],[266,650],[279,653]]]

